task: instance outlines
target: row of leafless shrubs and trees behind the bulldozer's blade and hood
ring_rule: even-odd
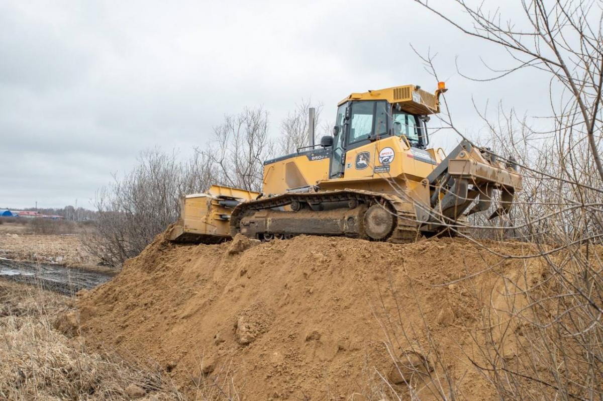
[[[283,121],[280,143],[293,147],[307,134],[307,106],[309,102],[297,105]],[[95,223],[84,241],[90,253],[119,267],[177,220],[182,195],[206,191],[213,184],[261,191],[264,161],[274,156],[275,147],[268,127],[266,110],[244,109],[224,116],[213,128],[213,141],[196,148],[192,159],[180,161],[176,153],[157,149],[142,153],[136,168],[114,175],[112,185],[96,193]]]

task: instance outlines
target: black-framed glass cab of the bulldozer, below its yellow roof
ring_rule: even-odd
[[[425,149],[428,145],[425,121],[425,116],[409,113],[400,104],[385,100],[347,101],[340,104],[333,128],[329,178],[343,177],[347,151],[386,137],[405,136],[412,147]],[[369,160],[360,157],[358,162],[368,165]]]

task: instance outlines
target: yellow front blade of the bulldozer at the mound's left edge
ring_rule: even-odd
[[[259,197],[258,192],[212,185],[206,194],[180,199],[180,218],[168,232],[174,242],[216,244],[230,239],[230,213],[241,202]]]

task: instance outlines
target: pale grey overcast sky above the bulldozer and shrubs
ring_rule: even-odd
[[[92,208],[95,190],[140,151],[178,148],[185,157],[245,106],[264,106],[277,134],[301,98],[323,103],[333,121],[350,92],[434,90],[410,43],[438,53],[468,133],[481,128],[472,96],[520,113],[546,103],[548,83],[526,72],[490,83],[459,76],[457,56],[476,77],[490,77],[480,57],[511,63],[411,0],[0,1],[0,207],[77,199]],[[458,138],[441,131],[433,141],[450,148]]]

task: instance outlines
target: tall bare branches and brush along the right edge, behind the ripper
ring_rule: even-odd
[[[487,110],[478,110],[490,131],[491,151],[499,159],[517,160],[524,188],[510,216],[490,223],[476,216],[471,235],[457,234],[501,260],[525,263],[516,274],[501,274],[499,294],[483,299],[491,307],[484,309],[482,329],[473,337],[472,362],[499,399],[601,399],[601,7],[591,1],[520,1],[516,4],[525,16],[520,25],[503,22],[500,10],[487,10],[485,4],[456,0],[472,24],[465,27],[432,2],[416,1],[464,33],[501,46],[516,60],[515,68],[490,69],[496,76],[489,79],[534,68],[551,80],[551,115],[539,124],[548,125],[544,129],[535,130],[528,118],[502,106],[494,120]],[[433,57],[422,58],[437,78]],[[443,127],[464,137],[445,109]],[[478,228],[484,224],[491,228]],[[482,238],[519,239],[531,243],[530,251],[500,253]],[[496,302],[499,295],[503,303]],[[428,327],[424,330],[429,333]]]

